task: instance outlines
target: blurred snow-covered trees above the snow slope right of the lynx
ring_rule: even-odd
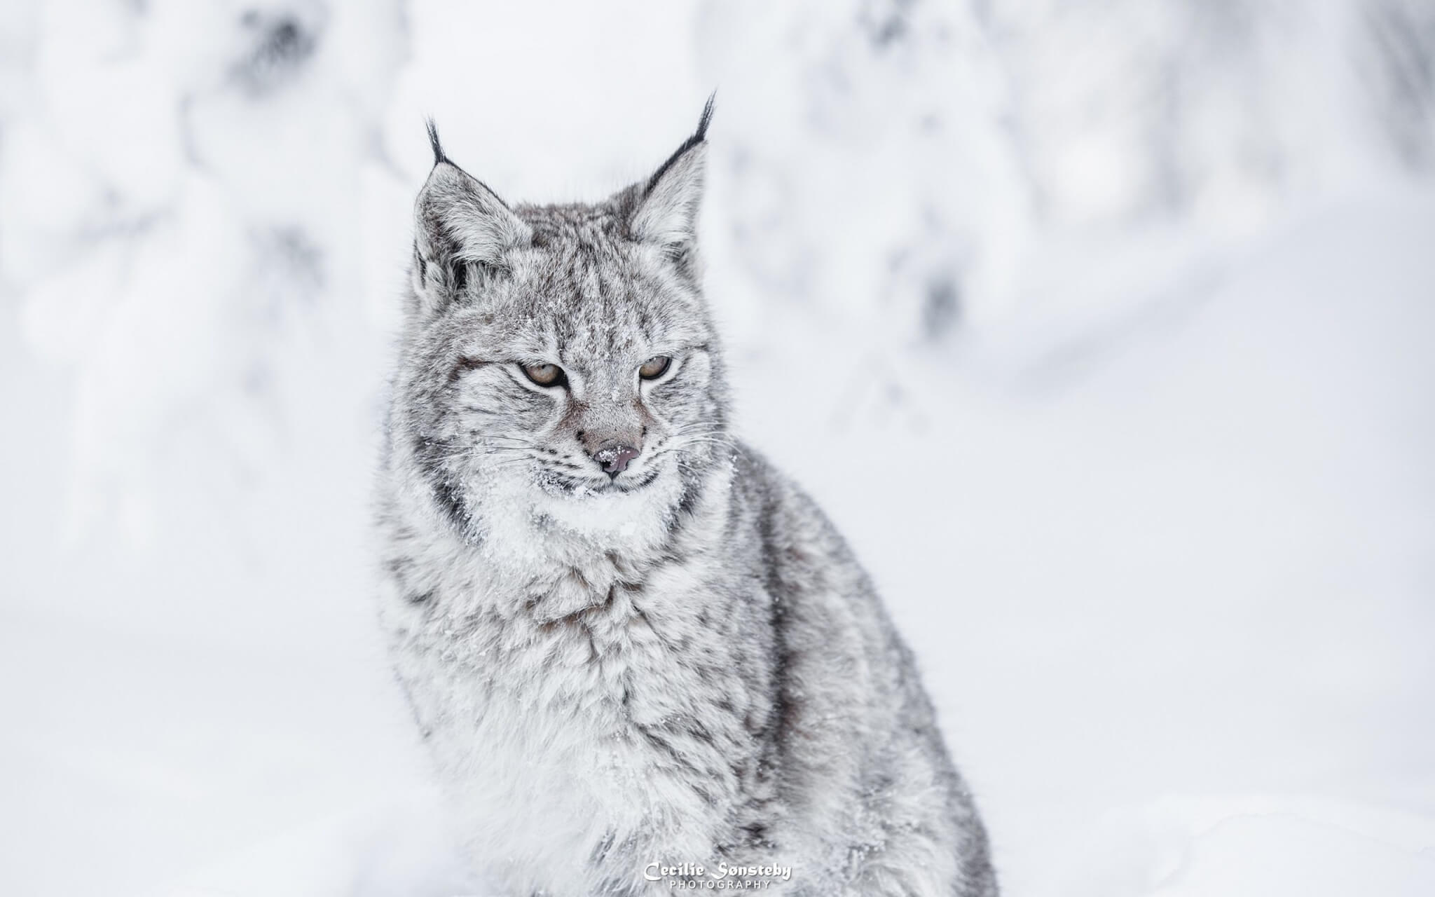
[[[709,3],[719,227],[762,301],[885,344],[1053,316],[1072,332],[1294,211],[1428,168],[1429,9]]]

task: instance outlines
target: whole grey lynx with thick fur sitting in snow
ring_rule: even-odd
[[[822,511],[729,431],[702,291],[706,131],[594,204],[443,154],[377,484],[393,666],[475,865],[515,897],[990,897],[907,647]],[[796,400],[796,399],[794,399]]]

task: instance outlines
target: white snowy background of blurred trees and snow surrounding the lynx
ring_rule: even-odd
[[[423,116],[598,198],[718,89],[742,435],[1013,897],[1435,894],[1435,4],[0,4],[0,893],[482,893],[373,621]]]

